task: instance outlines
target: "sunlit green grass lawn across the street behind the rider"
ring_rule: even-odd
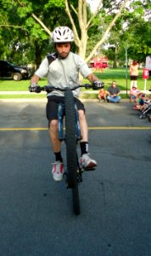
[[[98,79],[104,82],[105,90],[108,89],[109,85],[112,83],[113,80],[116,81],[120,90],[130,90],[130,74],[129,70],[127,71],[127,84],[126,84],[126,69],[125,68],[109,68],[105,69],[103,73],[95,73],[98,76]],[[87,83],[87,79],[83,79],[83,83]],[[39,85],[46,85],[47,79],[42,79],[39,81]],[[21,80],[21,81],[14,81],[14,80],[0,80],[0,91],[27,91],[30,85],[30,80]],[[139,77],[137,80],[137,85],[139,90],[144,90],[144,79],[143,79],[143,70],[139,70]],[[127,87],[126,87],[127,86]],[[151,77],[147,80],[146,83],[146,90],[151,87]],[[94,94],[85,94],[85,89],[82,89],[83,98],[97,98],[97,92]],[[86,90],[87,91],[87,90]],[[125,98],[126,95],[121,95],[122,98]],[[45,95],[43,94],[31,94],[31,95],[0,95],[0,99],[4,98],[43,98]]]

